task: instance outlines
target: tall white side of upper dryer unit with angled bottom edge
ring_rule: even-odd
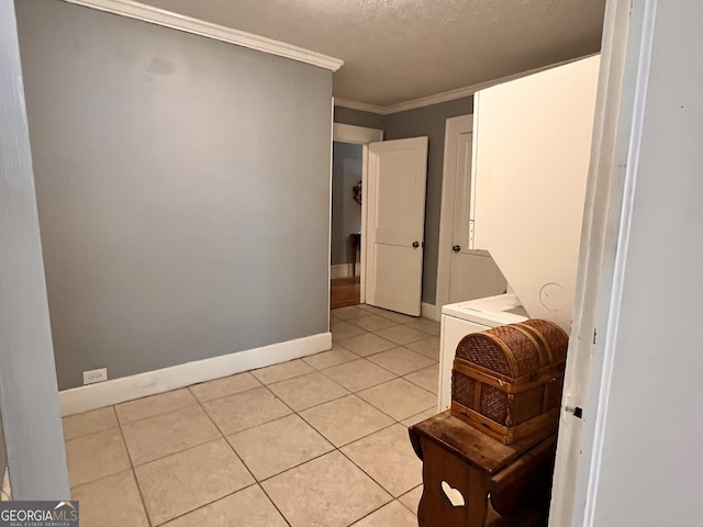
[[[475,96],[473,246],[533,318],[567,332],[591,159],[599,57]]]

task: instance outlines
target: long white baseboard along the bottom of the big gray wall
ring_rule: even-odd
[[[62,415],[78,414],[133,399],[155,395],[199,382],[212,381],[243,371],[299,359],[331,348],[332,333],[320,333],[295,340],[72,388],[59,392]]]

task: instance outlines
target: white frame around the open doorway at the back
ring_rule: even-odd
[[[332,124],[332,142],[331,147],[334,147],[334,142],[338,143],[352,143],[354,145],[361,145],[361,192],[365,192],[367,189],[367,178],[369,171],[369,143],[378,143],[383,141],[383,131],[378,128],[367,128],[365,126],[355,126],[353,124],[342,124],[342,123],[333,123]],[[334,148],[333,148],[334,149]],[[330,159],[330,248],[327,253],[330,253],[330,277],[328,280],[332,280],[332,167],[333,159],[331,156]],[[361,194],[364,195],[364,194]],[[366,277],[366,236],[364,233],[366,232],[366,211],[367,211],[367,200],[361,199],[361,250],[359,255],[360,266],[359,266],[359,274],[361,277],[361,289],[360,289],[360,299],[361,303],[366,302],[366,283],[364,277]],[[327,302],[330,299],[327,299]]]

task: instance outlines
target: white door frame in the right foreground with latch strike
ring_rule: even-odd
[[[657,0],[607,0],[549,525],[592,526]],[[598,327],[598,332],[596,332]],[[582,408],[583,418],[574,415]]]

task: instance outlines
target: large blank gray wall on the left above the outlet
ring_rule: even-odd
[[[18,8],[60,389],[326,332],[332,74]]]

